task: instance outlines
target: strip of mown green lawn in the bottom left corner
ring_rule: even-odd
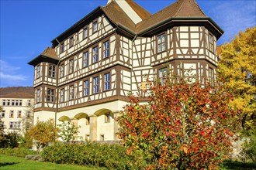
[[[49,169],[49,170],[92,170],[92,169],[103,169],[103,168],[92,168],[86,166],[79,166],[79,165],[58,165],[50,162],[36,162],[36,161],[29,161],[25,158],[18,158],[9,155],[0,155],[0,169],[16,169],[16,170],[40,170],[40,169]]]

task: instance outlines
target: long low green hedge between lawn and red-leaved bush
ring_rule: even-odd
[[[126,148],[121,145],[56,143],[44,148],[41,155],[45,161],[57,164],[92,165],[108,169],[143,169],[145,167],[140,153],[137,153],[137,156],[128,157]]]

